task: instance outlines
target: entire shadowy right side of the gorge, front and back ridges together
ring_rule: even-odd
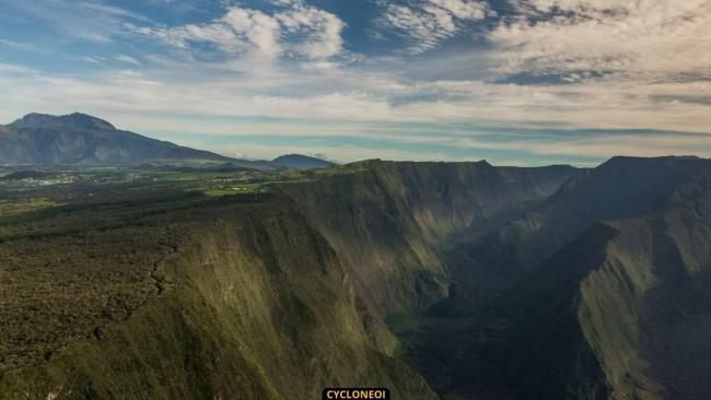
[[[450,390],[708,398],[710,177],[707,160],[613,158],[522,219],[462,244],[457,293],[481,291],[467,275],[486,277],[493,290],[445,303],[477,320],[464,333],[436,331],[456,343],[440,357],[468,372],[447,373]],[[471,385],[487,372],[497,379]]]

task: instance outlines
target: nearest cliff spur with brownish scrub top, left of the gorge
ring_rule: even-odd
[[[24,352],[3,370],[0,397],[313,399],[326,386],[368,383],[434,398],[369,343],[336,254],[289,203],[183,205],[114,210],[131,222],[3,244],[3,258],[18,260],[4,271],[18,285],[5,290],[36,293],[30,274],[45,298],[3,309],[22,314],[14,321],[24,328],[3,336],[3,350]],[[68,235],[65,263],[48,264]],[[19,258],[31,245],[33,266]],[[92,251],[103,260],[83,259]],[[32,313],[45,302],[56,311]],[[42,323],[46,337],[27,342]]]

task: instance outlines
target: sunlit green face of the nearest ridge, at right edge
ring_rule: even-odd
[[[578,315],[618,398],[711,397],[711,175],[661,210],[610,223],[604,261],[581,283]]]

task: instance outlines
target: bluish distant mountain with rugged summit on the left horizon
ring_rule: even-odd
[[[268,162],[234,160],[116,129],[85,114],[28,114],[0,126],[0,164],[136,164],[149,161],[230,162],[276,169]]]

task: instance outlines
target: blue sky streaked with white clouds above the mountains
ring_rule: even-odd
[[[0,123],[221,154],[711,157],[711,0],[0,0]]]

